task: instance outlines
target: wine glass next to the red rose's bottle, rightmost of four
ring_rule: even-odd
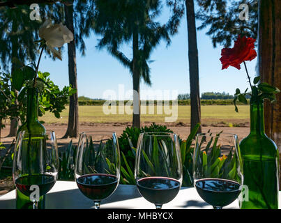
[[[228,133],[197,134],[193,178],[199,196],[214,209],[232,203],[243,185],[238,137]]]

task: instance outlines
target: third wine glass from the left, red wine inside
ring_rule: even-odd
[[[156,209],[172,201],[181,189],[183,168],[176,134],[145,132],[139,134],[135,160],[135,179],[142,197]]]

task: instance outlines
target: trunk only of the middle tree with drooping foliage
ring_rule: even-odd
[[[132,89],[133,113],[132,127],[140,128],[140,100],[139,100],[139,33],[135,31],[132,36]]]

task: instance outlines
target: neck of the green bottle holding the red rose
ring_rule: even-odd
[[[251,103],[250,130],[252,134],[264,134],[264,102]]]

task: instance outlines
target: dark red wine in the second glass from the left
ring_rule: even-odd
[[[110,174],[87,174],[76,180],[82,194],[93,201],[109,197],[116,190],[118,182],[118,178]]]

